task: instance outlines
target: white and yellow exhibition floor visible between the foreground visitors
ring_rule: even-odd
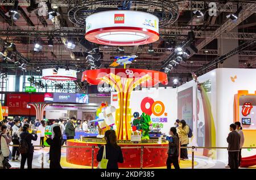
[[[34,158],[32,162],[32,168],[33,169],[40,169],[42,168],[42,153],[44,153],[44,164],[43,167],[48,169],[49,168],[49,155],[47,154],[49,152],[49,148],[44,148],[40,150],[35,150]],[[89,166],[81,166],[81,165],[74,165],[70,164],[67,161],[65,161],[66,156],[66,149],[63,148],[61,150],[61,166],[63,168],[79,168],[79,169],[90,169]],[[227,157],[228,158],[228,157]],[[20,161],[10,161],[11,168],[19,168],[20,167]],[[224,169],[226,165],[225,161],[217,161],[212,160],[207,157],[203,156],[196,156],[195,155],[195,169]],[[25,165],[25,168],[27,166]],[[161,169],[165,169],[166,167],[162,167]],[[188,161],[180,161],[180,168],[181,169],[191,169],[191,155],[189,155]],[[256,166],[252,166],[250,168],[256,168]]]

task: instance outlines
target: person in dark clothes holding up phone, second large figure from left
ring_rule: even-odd
[[[37,140],[38,135],[36,135],[34,131],[32,131],[32,134],[28,133],[29,128],[30,126],[28,124],[25,124],[22,128],[22,133],[20,134],[19,151],[22,156],[22,159],[20,162],[20,169],[24,169],[26,160],[27,160],[27,168],[32,169],[34,146],[31,143],[31,140]],[[27,144],[27,148],[26,148],[26,144]]]

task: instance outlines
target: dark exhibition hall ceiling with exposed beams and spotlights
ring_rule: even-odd
[[[1,59],[2,68],[8,71],[22,70],[15,65],[17,61],[26,63],[27,71],[36,72],[56,66],[83,71],[90,68],[88,54],[97,61],[96,68],[108,68],[117,56],[137,55],[136,61],[127,67],[159,71],[167,67],[164,64],[170,62],[175,48],[186,46],[186,42],[191,41],[198,51],[168,72],[171,77],[191,77],[192,71],[221,56],[220,50],[225,47],[218,48],[219,38],[237,40],[238,45],[242,45],[256,36],[254,1],[18,2],[16,15],[10,13],[15,8],[15,0],[0,0],[0,50],[2,52],[5,48],[5,42],[13,42],[16,50],[10,59]],[[109,10],[142,11],[155,15],[159,19],[159,40],[152,44],[123,47],[93,44],[85,40],[86,25],[89,25],[85,23],[85,18]],[[235,17],[237,12],[240,14]],[[230,19],[232,23],[228,22]],[[189,33],[191,31],[195,37]],[[68,42],[74,46],[68,47]],[[36,43],[38,49],[35,49]],[[52,43],[53,46],[48,46]],[[238,54],[240,68],[256,67],[254,43]]]

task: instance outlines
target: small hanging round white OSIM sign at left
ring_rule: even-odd
[[[77,80],[75,70],[66,71],[65,68],[45,68],[42,70],[42,79],[48,80]]]

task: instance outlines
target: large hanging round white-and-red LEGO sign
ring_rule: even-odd
[[[85,38],[113,46],[149,44],[159,40],[158,24],[159,19],[146,12],[103,11],[86,18]]]

